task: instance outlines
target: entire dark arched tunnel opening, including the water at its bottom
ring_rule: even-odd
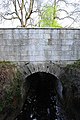
[[[37,72],[28,76],[25,86],[28,85],[29,89],[16,120],[59,120],[57,99],[62,94],[60,93],[62,86],[58,82],[56,76],[46,72]]]

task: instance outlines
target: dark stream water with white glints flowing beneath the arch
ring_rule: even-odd
[[[32,92],[16,120],[57,120],[55,97],[48,96],[46,101],[45,98],[42,100],[39,97]]]

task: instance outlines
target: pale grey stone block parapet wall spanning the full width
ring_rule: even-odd
[[[75,61],[80,59],[80,29],[0,29],[0,61]]]

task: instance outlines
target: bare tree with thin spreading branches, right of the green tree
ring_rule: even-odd
[[[80,27],[80,0],[55,0],[59,16],[56,17],[64,27]]]

